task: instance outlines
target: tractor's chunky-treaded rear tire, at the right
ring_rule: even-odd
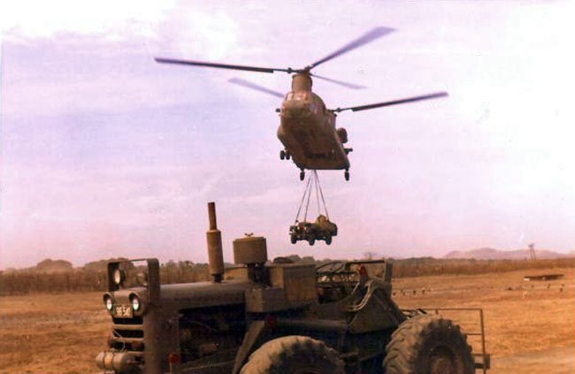
[[[472,347],[449,319],[419,315],[400,324],[386,347],[386,374],[474,374]]]

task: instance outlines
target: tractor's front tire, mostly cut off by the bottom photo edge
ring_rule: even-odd
[[[307,336],[270,340],[249,356],[241,374],[344,374],[343,362],[323,341]]]

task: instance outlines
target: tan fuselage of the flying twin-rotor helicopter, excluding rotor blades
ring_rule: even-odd
[[[295,74],[292,91],[281,104],[278,138],[301,170],[349,169],[347,151],[336,133],[335,113],[311,92],[311,80],[305,74]]]

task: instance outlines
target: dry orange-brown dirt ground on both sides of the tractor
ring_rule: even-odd
[[[563,273],[526,282],[524,275]],[[424,292],[425,290],[425,292]],[[401,308],[482,308],[492,374],[575,372],[573,269],[433,276],[394,281]],[[96,373],[110,317],[100,293],[0,298],[0,373]],[[477,311],[444,311],[465,332],[479,332]],[[480,340],[470,336],[473,351]],[[479,370],[478,370],[479,372]]]

